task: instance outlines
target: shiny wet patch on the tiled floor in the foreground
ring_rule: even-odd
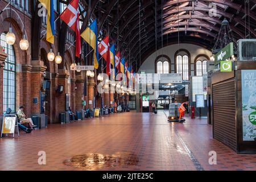
[[[105,167],[134,166],[138,164],[139,158],[128,152],[117,152],[113,155],[105,154],[83,154],[73,156],[64,160],[63,164],[75,168],[88,168],[92,170]]]

